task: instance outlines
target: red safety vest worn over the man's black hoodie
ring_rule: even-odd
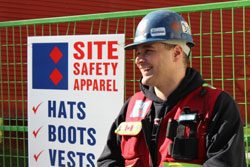
[[[157,133],[157,166],[178,167],[178,165],[182,165],[188,167],[192,164],[203,164],[206,159],[206,131],[213,114],[215,101],[220,92],[220,90],[207,85],[200,86],[164,115],[159,122],[160,128],[159,133]],[[122,136],[121,150],[125,159],[125,166],[150,167],[153,164],[149,146],[146,144],[147,128],[143,125],[144,118],[152,109],[152,103],[152,100],[146,98],[142,92],[136,93],[129,102],[126,121],[116,129],[116,133]],[[190,108],[191,113],[197,113],[199,116],[195,136],[198,141],[197,157],[188,161],[172,157],[170,150],[174,141],[166,137],[168,121],[170,119],[178,121],[186,107]],[[188,136],[190,129],[185,128],[184,131]]]

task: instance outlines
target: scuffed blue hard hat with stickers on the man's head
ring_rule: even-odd
[[[135,49],[137,45],[157,41],[184,41],[190,48],[194,46],[191,30],[181,15],[169,10],[148,13],[139,22],[134,42],[125,49]]]

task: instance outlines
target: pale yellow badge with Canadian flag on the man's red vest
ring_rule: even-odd
[[[134,136],[139,134],[141,129],[141,122],[122,122],[115,130],[115,133],[118,135]]]

